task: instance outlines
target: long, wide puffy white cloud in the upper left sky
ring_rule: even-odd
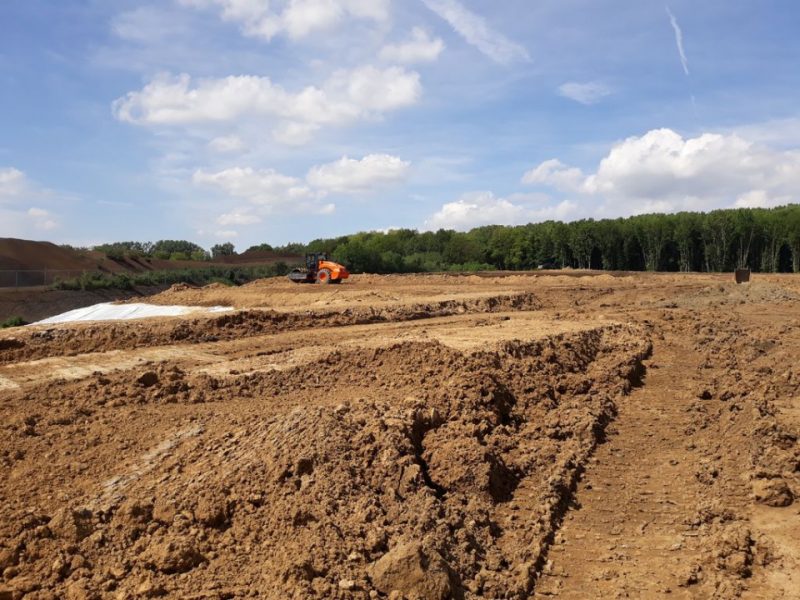
[[[144,126],[231,123],[246,118],[277,121],[274,137],[304,143],[324,125],[341,126],[415,104],[419,74],[372,66],[334,72],[322,87],[288,92],[268,77],[230,76],[193,82],[187,74],[162,74],[112,105],[120,121]]]

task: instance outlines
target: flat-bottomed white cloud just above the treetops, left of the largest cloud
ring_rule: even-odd
[[[515,203],[511,198],[498,198],[492,192],[470,192],[455,202],[443,205],[425,229],[457,229],[466,231],[482,225],[522,225],[548,219],[568,219],[577,206],[564,200],[552,206],[530,206]]]

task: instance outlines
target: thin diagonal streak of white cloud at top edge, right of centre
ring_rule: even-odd
[[[475,46],[492,60],[509,64],[530,60],[528,51],[494,31],[480,15],[475,14],[458,0],[422,0],[425,5],[447,21],[469,44]]]

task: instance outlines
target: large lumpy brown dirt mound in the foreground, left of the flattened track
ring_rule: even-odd
[[[50,456],[69,500],[31,486],[4,506],[9,585],[40,598],[525,597],[648,352],[618,326],[474,354],[334,353],[335,378],[163,368],[44,388],[41,414],[7,427],[4,460],[21,477],[41,474],[55,440],[103,464],[120,443],[105,424],[142,402],[209,410],[94,495],[71,452]],[[246,411],[227,408],[243,398]]]

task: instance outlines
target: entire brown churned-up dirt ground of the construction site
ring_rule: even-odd
[[[800,597],[799,277],[148,301],[0,332],[0,600]]]

